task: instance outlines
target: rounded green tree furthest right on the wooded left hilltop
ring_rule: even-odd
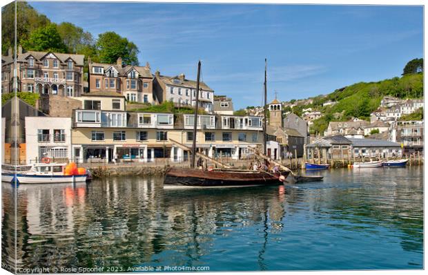
[[[101,33],[95,44],[97,57],[95,61],[103,63],[115,63],[121,57],[122,62],[128,65],[138,65],[137,46],[121,37],[116,32]]]

